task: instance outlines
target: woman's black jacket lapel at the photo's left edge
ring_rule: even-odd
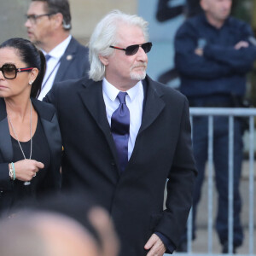
[[[9,125],[3,98],[0,98],[0,151],[3,160],[10,162],[13,158],[13,147],[9,135]]]

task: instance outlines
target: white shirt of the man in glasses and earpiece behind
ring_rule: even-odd
[[[54,83],[56,73],[60,67],[61,56],[65,53],[68,44],[70,43],[72,36],[69,35],[61,44],[58,44],[54,49],[52,49],[49,53],[46,53],[43,49],[44,55],[50,55],[49,61],[46,64],[46,72],[44,75],[44,80],[42,84],[42,90],[40,95],[38,96],[38,100],[42,100],[44,96],[51,89],[52,84]],[[54,71],[53,71],[54,69]]]

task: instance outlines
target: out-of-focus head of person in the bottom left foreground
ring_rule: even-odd
[[[81,191],[80,191],[81,192]],[[117,256],[113,223],[96,201],[69,193],[44,196],[0,219],[0,255]]]

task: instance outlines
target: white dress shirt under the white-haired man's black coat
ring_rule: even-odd
[[[128,141],[128,160],[134,148],[137,133],[142,124],[143,117],[143,100],[144,90],[143,83],[139,81],[130,90],[126,90],[125,102],[130,111],[130,135]],[[103,99],[106,105],[108,123],[111,127],[111,117],[113,112],[119,108],[119,99],[117,98],[119,90],[112,84],[109,84],[107,79],[102,81]]]

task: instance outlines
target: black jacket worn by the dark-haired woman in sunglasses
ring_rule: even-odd
[[[49,144],[50,166],[45,175],[38,172],[35,183],[40,185],[41,193],[57,191],[61,188],[61,132],[58,125],[55,108],[45,102],[32,99],[33,107],[38,113],[44,127],[44,133]],[[9,163],[13,161],[13,148],[9,134],[9,125],[5,102],[0,98],[0,212],[8,211],[12,207],[15,185],[9,178]],[[44,183],[44,186],[42,186]],[[35,188],[33,188],[34,190]]]

